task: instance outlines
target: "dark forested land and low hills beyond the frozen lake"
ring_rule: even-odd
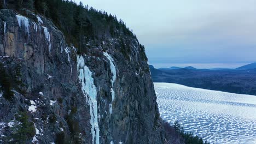
[[[154,82],[181,85],[216,91],[256,95],[256,69],[155,69],[149,67]]]

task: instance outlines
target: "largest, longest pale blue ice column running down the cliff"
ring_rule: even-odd
[[[90,105],[90,123],[92,143],[100,143],[100,129],[98,127],[98,109],[97,109],[97,88],[94,85],[94,79],[92,78],[92,72],[85,65],[83,56],[77,56],[77,70],[78,78],[82,84],[82,91],[86,98],[86,102]]]

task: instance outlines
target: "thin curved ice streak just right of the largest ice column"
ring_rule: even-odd
[[[107,52],[104,52],[103,55],[108,58],[110,63],[110,70],[112,73],[112,80],[111,80],[112,88],[110,89],[110,92],[112,95],[112,101],[111,101],[111,104],[109,104],[109,113],[112,114],[112,103],[115,99],[115,92],[113,90],[113,87],[114,87],[115,79],[117,78],[117,70],[115,69],[114,59],[111,56],[109,56]]]

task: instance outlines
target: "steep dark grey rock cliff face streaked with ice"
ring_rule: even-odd
[[[0,97],[1,142],[15,141],[14,115],[27,111],[36,134],[26,143],[163,143],[153,82],[136,39],[125,39],[129,53],[120,48],[124,38],[106,38],[77,55],[50,20],[9,9],[0,10],[0,33],[0,61],[19,81],[14,100]]]

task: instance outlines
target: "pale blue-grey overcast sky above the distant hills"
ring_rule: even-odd
[[[121,18],[157,68],[235,68],[256,62],[256,0],[82,2]]]

